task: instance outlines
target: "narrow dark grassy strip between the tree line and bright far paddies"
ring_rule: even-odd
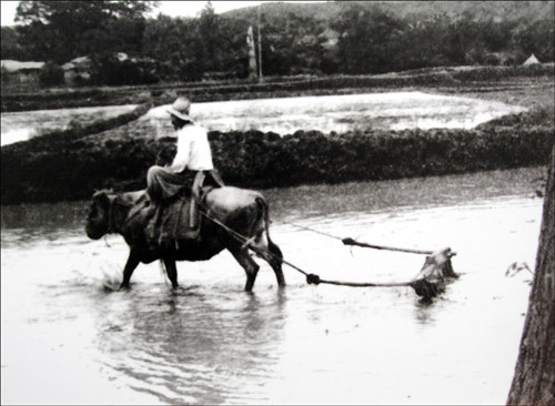
[[[169,104],[178,94],[194,102],[364,93],[412,87],[446,87],[451,92],[475,87],[476,90],[500,87],[506,80],[545,80],[554,77],[554,64],[528,67],[427,68],[382,75],[275,77],[263,83],[228,80],[205,83],[170,83],[134,87],[51,89],[27,93],[2,94],[2,112],[79,106],[122,105],[151,102]]]

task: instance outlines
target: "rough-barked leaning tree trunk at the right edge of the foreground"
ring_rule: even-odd
[[[555,405],[555,144],[552,149],[536,268],[508,405]]]

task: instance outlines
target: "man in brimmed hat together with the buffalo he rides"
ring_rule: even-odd
[[[147,190],[94,193],[87,235],[92,240],[111,233],[123,236],[130,251],[122,288],[129,287],[139,263],[155,260],[162,261],[172,286],[178,287],[175,261],[208,261],[222,250],[244,268],[245,291],[252,291],[260,268],[250,251],[265,260],[278,285],[285,286],[283,255],[270,238],[266,200],[259,192],[223,184],[212,164],[206,131],[192,122],[190,108],[186,98],[179,98],[168,109],[178,135],[172,163],[149,169]],[[203,187],[204,180],[210,183]]]

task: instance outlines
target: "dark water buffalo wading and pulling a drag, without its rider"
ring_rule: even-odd
[[[279,286],[285,286],[281,267],[283,256],[270,238],[269,209],[261,193],[232,186],[209,191],[202,203],[204,213],[199,238],[181,240],[162,246],[153,246],[152,236],[147,231],[153,221],[153,210],[148,203],[144,205],[144,201],[148,201],[144,191],[100,191],[92,197],[87,235],[99,240],[105,234],[118,233],[130,247],[120,288],[129,287],[139,263],[149,264],[155,260],[163,262],[173,287],[178,287],[175,261],[206,261],[228,250],[245,270],[244,290],[250,292],[260,266],[251,257],[249,247],[272,266]]]

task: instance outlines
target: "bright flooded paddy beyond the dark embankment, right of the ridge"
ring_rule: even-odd
[[[193,103],[191,116],[218,131],[275,132],[297,130],[339,133],[355,129],[472,129],[524,108],[496,101],[423,92],[390,92]],[[168,121],[165,106],[145,115]]]

